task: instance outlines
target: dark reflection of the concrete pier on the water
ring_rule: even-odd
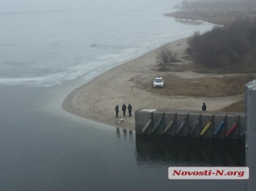
[[[170,166],[245,166],[244,144],[225,141],[141,138],[136,136],[138,164]]]

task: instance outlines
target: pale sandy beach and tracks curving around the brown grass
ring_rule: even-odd
[[[177,62],[177,65],[190,64],[191,61],[184,59],[187,38],[171,42],[166,46],[177,52],[177,57],[181,60],[181,62]],[[139,108],[200,110],[202,103],[205,102],[208,111],[218,111],[244,98],[244,94],[205,98],[161,96],[149,93],[143,86],[148,84],[153,88],[153,80],[156,76],[176,75],[180,78],[220,77],[218,74],[210,75],[189,71],[159,72],[156,66],[156,55],[159,50],[161,50],[161,47],[134,60],[125,62],[123,65],[114,67],[80,88],[76,88],[63,101],[63,109],[93,121],[133,130],[135,127],[134,112]],[[126,106],[131,103],[133,107],[131,117],[128,117],[128,111],[126,111],[126,116],[123,117],[123,112],[121,111],[123,103]],[[115,117],[116,105],[120,107],[119,118]],[[124,118],[125,121],[117,124],[120,118]]]

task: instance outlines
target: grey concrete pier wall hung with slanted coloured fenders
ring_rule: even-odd
[[[136,136],[168,136],[244,141],[245,113],[140,108]]]

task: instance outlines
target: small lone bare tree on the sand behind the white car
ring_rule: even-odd
[[[156,63],[159,63],[162,69],[167,69],[166,66],[172,62],[178,62],[177,52],[173,52],[166,46],[162,47],[158,55],[156,55]]]

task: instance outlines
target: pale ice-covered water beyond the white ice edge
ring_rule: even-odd
[[[2,1],[0,84],[52,86],[92,78],[213,24],[163,14],[180,1]],[[97,46],[92,46],[97,45]]]

